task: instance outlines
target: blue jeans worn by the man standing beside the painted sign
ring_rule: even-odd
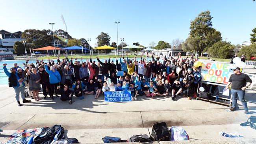
[[[232,107],[236,107],[237,96],[238,96],[240,102],[243,105],[243,108],[245,110],[248,110],[247,103],[245,101],[245,90],[234,90],[234,89],[231,89],[231,92],[232,92]]]

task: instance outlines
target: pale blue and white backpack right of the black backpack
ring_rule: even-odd
[[[189,135],[182,127],[171,127],[171,140],[189,140]]]

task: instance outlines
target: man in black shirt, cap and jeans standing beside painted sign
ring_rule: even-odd
[[[243,108],[245,109],[245,114],[249,114],[247,103],[245,101],[245,89],[250,86],[252,80],[246,74],[240,72],[240,68],[236,67],[233,69],[234,74],[232,74],[228,80],[228,85],[225,89],[228,89],[228,86],[231,85],[232,92],[232,107],[230,111],[236,110],[237,96],[241,101]]]

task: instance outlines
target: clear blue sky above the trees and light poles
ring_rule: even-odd
[[[201,11],[210,10],[213,27],[232,44],[250,40],[256,27],[256,2],[252,0],[0,0],[0,30],[9,32],[25,29],[65,30],[76,38],[96,37],[108,33],[111,42],[124,38],[127,44],[139,42],[148,46],[152,41],[171,43],[173,39],[185,40],[190,21]],[[110,42],[110,43],[111,43]]]

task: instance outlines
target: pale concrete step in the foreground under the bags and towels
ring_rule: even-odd
[[[205,126],[182,126],[189,135],[190,140],[179,142],[160,142],[160,144],[255,144],[255,129],[239,126],[239,124],[228,125],[205,125]],[[65,127],[64,127],[65,129]],[[219,132],[236,133],[243,135],[243,138],[226,138],[219,135]],[[0,142],[15,130],[4,130],[0,135]],[[128,140],[133,135],[147,134],[150,136],[151,127],[149,128],[120,128],[120,129],[67,129],[65,137],[77,138],[81,143],[103,143],[102,138],[105,136],[120,137]],[[158,142],[153,142],[158,143]]]

